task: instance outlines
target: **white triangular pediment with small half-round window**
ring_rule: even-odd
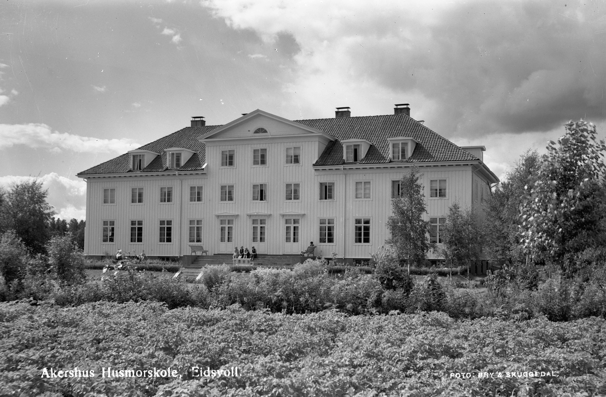
[[[205,140],[267,139],[269,137],[313,135],[324,136],[330,140],[335,139],[335,137],[316,128],[257,109],[219,128],[215,128],[208,134],[199,136],[198,139],[204,142]]]

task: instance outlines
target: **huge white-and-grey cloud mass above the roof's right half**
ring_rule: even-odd
[[[606,119],[606,20],[598,2],[202,5],[267,43],[292,36],[299,52],[285,90],[313,103],[310,113],[348,105],[385,114],[378,103],[409,102],[411,116],[422,115],[445,136],[544,132],[568,119]]]

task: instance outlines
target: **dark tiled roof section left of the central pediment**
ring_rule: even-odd
[[[162,172],[167,169],[166,166],[166,152],[164,149],[167,148],[184,148],[195,151],[195,154],[190,157],[187,162],[179,168],[179,171],[195,171],[202,169],[202,165],[205,163],[205,145],[203,142],[198,140],[198,137],[202,134],[206,134],[220,125],[208,125],[203,127],[187,127],[182,130],[176,131],[170,135],[162,137],[154,142],[143,145],[138,150],[148,150],[155,153],[159,153],[142,171],[131,171],[130,170],[130,155],[128,153],[122,154],[122,156],[115,157],[112,160],[96,165],[92,168],[88,168],[85,171],[79,172],[78,175],[92,175],[92,174],[122,174],[126,172]]]

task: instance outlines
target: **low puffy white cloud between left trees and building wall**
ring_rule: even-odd
[[[10,189],[15,183],[28,182],[35,179],[31,176],[0,177],[0,186]],[[84,220],[86,215],[86,182],[81,179],[72,180],[51,172],[38,178],[42,188],[48,190],[47,202],[55,209],[55,217],[70,220]]]

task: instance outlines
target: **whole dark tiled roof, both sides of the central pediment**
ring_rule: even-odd
[[[371,143],[361,164],[376,164],[390,162],[390,146],[388,138],[410,137],[418,143],[415,151],[408,158],[408,162],[442,162],[442,161],[469,161],[478,160],[459,146],[439,136],[415,119],[404,114],[390,114],[386,116],[341,117],[332,119],[295,120],[312,128],[324,131],[338,140],[329,143],[324,149],[315,165],[341,165],[343,160],[343,146],[341,140],[364,139]],[[138,149],[149,150],[161,154],[156,157],[142,171],[136,172],[162,172],[167,169],[167,148],[185,148],[196,153],[179,170],[195,171],[202,168],[205,163],[205,145],[198,137],[210,133],[220,125],[202,127],[187,127],[176,131]],[[122,154],[115,159],[96,165],[79,176],[92,174],[118,174],[130,171],[130,156]]]

